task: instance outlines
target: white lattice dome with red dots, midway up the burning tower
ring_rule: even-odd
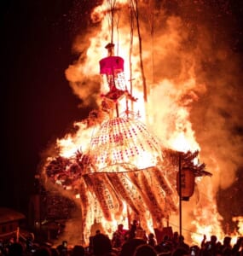
[[[129,164],[131,169],[155,166],[161,160],[159,140],[136,119],[109,119],[91,138],[90,156],[95,172],[125,172],[113,166]],[[130,171],[130,170],[126,170]]]

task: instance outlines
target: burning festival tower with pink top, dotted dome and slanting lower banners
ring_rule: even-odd
[[[139,21],[137,11],[136,6],[136,22]],[[127,86],[127,81],[131,82],[133,78],[127,79],[124,74],[124,59],[113,55],[112,38],[112,43],[107,44],[108,56],[99,62],[101,109],[90,112],[82,125],[79,124],[82,129],[78,129],[76,134],[59,141],[60,155],[47,160],[43,168],[43,175],[56,186],[69,190],[71,195],[79,195],[76,198],[80,199],[78,203],[82,210],[84,241],[89,240],[91,226],[97,222],[103,225],[109,235],[113,233],[117,223],[127,224],[131,218],[139,219],[147,232],[163,227],[164,220],[178,212],[176,174],[179,156],[182,168],[194,172],[195,177],[211,176],[210,172],[205,171],[205,164],[199,163],[200,147],[194,140],[185,104],[180,106],[176,102],[183,100],[176,85],[168,93],[176,102],[170,104],[178,109],[173,110],[172,114],[167,113],[173,128],[169,129],[169,125],[165,125],[165,130],[168,130],[166,132],[170,133],[170,137],[166,137],[166,147],[138,119],[141,116],[146,119],[144,112],[145,105],[148,104],[139,27],[137,23],[139,31],[136,34],[136,46],[140,49],[139,58],[135,58],[135,63],[140,63],[140,69],[134,68],[136,72],[140,71],[136,79],[137,88],[132,84],[130,89]],[[103,30],[106,31],[104,28]],[[98,36],[101,37],[100,34]],[[127,43],[126,38],[127,35],[124,34],[123,44]],[[95,38],[90,39],[90,49],[93,51],[90,55],[87,54],[86,63],[82,63],[83,66],[87,64],[89,72],[93,72],[90,67],[97,52],[95,42]],[[78,72],[81,73],[79,70],[80,68]],[[133,70],[130,63],[131,73]],[[87,76],[87,73],[84,72],[84,75]],[[192,79],[189,81],[191,83]],[[164,87],[169,84],[167,80],[163,83]],[[187,84],[188,90],[190,83]],[[131,93],[136,91],[141,94],[141,88],[142,103],[139,102],[139,97],[135,98]],[[156,86],[154,89],[156,91]],[[188,98],[186,100],[189,102]],[[135,108],[135,103],[140,106]],[[84,151],[77,149],[80,145]],[[187,149],[179,150],[178,145]]]

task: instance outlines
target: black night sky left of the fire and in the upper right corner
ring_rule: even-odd
[[[80,100],[72,94],[64,72],[78,58],[72,42],[89,26],[94,2],[1,3],[1,207],[27,212],[40,154],[89,112],[78,108]],[[243,55],[243,3],[219,2],[230,3],[235,25],[231,40]]]

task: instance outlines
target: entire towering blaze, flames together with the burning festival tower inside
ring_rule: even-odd
[[[74,45],[80,57],[66,71],[74,94],[95,107],[74,123],[74,132],[56,140],[42,174],[47,189],[80,206],[83,243],[94,226],[112,236],[118,224],[128,228],[133,219],[147,232],[168,224],[179,230],[180,203],[188,241],[225,235],[213,185],[222,162],[213,143],[202,152],[191,120],[207,93],[201,52],[210,58],[210,43],[200,37],[209,35],[201,26],[195,40],[192,27],[157,2],[110,0],[95,7],[90,32]],[[218,58],[225,54],[217,52]],[[178,182],[185,170],[195,186],[185,196],[189,201],[179,197],[188,186],[182,173]],[[226,179],[225,187],[234,175]],[[242,227],[242,217],[237,222]],[[242,228],[229,234],[242,236]]]

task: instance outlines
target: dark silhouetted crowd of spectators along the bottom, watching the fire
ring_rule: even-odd
[[[223,241],[218,241],[217,236],[208,240],[203,236],[200,246],[189,246],[183,236],[174,232],[158,242],[153,233],[147,235],[134,220],[129,230],[124,230],[123,224],[119,224],[111,239],[101,230],[96,230],[87,247],[68,247],[67,241],[52,247],[39,245],[33,239],[26,239],[24,243],[14,241],[12,237],[9,241],[1,241],[0,256],[243,256],[243,236],[238,237],[234,244],[231,241],[230,236],[225,236]]]

